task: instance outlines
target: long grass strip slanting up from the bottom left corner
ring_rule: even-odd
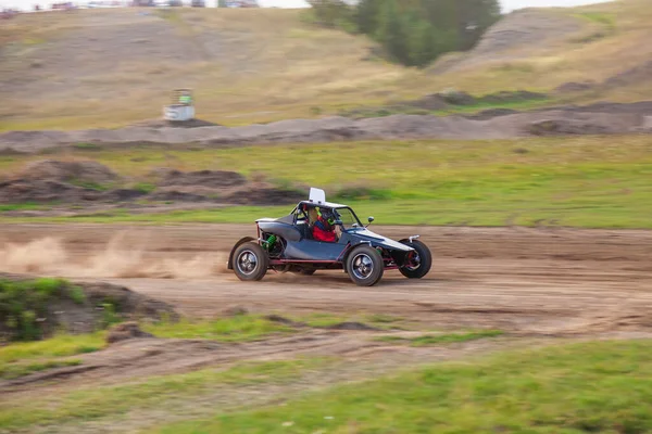
[[[152,376],[118,386],[96,386],[42,399],[15,399],[0,408],[0,429],[27,429],[73,421],[116,417],[128,411],[171,408],[223,387],[289,382],[327,359],[247,362],[228,369],[202,369],[183,374]]]

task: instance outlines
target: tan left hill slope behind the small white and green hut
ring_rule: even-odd
[[[296,117],[341,93],[372,98],[405,74],[364,61],[368,41],[303,24],[299,11],[83,10],[11,25],[3,129],[133,124],[187,87],[202,118]]]

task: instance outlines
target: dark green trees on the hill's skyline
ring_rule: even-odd
[[[321,25],[368,35],[390,59],[426,66],[441,54],[475,46],[500,17],[498,0],[312,0]]]

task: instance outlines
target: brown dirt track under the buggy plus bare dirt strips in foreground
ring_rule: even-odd
[[[151,375],[225,369],[243,360],[305,356],[339,360],[298,374],[287,384],[215,385],[191,399],[164,401],[161,408],[135,408],[120,422],[115,416],[106,416],[37,430],[126,432],[505,347],[550,344],[559,337],[652,334],[650,231],[376,227],[394,238],[421,233],[432,248],[434,268],[422,281],[388,272],[379,285],[362,289],[342,272],[313,277],[271,273],[262,282],[240,282],[225,270],[226,253],[252,229],[249,225],[5,225],[0,228],[0,243],[9,244],[0,244],[0,271],[110,281],[168,302],[192,317],[224,315],[236,306],[286,316],[389,314],[408,319],[401,326],[408,324],[412,331],[304,327],[290,335],[239,344],[137,339],[76,356],[83,361],[79,366],[0,381],[0,396],[8,403],[57,397],[70,391],[145,381]],[[425,347],[376,340],[388,333],[417,336],[435,328],[491,328],[507,334]]]

